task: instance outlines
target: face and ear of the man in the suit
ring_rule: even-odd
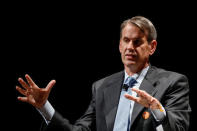
[[[148,65],[149,55],[156,49],[157,42],[148,43],[145,34],[135,25],[127,24],[122,30],[119,50],[125,68],[138,70]]]

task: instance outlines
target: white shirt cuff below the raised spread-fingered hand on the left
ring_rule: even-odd
[[[42,108],[36,108],[38,112],[42,115],[44,118],[46,124],[49,124],[51,121],[53,115],[55,114],[55,109],[52,107],[52,105],[49,103],[49,101],[46,101],[44,106]]]

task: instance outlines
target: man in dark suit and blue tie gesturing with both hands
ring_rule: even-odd
[[[16,89],[45,119],[42,130],[186,131],[189,128],[189,86],[184,75],[150,65],[157,33],[147,18],[136,16],[121,25],[119,50],[124,71],[96,81],[85,114],[74,125],[47,101],[55,80],[39,88],[29,75]]]

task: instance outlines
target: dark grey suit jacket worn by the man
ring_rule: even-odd
[[[58,112],[55,112],[50,124],[42,130],[58,131],[113,131],[119,103],[124,71],[103,78],[93,84],[92,100],[85,114],[71,125]],[[189,127],[189,86],[184,75],[151,66],[140,86],[157,98],[166,110],[166,118],[158,123],[154,117],[142,117],[149,109],[135,103],[131,131],[154,131],[162,124],[164,131],[186,131]]]

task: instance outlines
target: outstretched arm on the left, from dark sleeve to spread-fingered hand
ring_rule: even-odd
[[[33,105],[42,114],[47,124],[43,124],[41,130],[89,131],[90,128],[95,128],[94,97],[85,114],[77,120],[75,124],[71,124],[67,119],[63,118],[61,114],[56,112],[47,101],[50,91],[56,81],[51,80],[46,88],[39,88],[29,75],[25,75],[25,78],[27,82],[25,82],[22,78],[18,79],[22,88],[16,86],[16,90],[24,95],[24,97],[18,97],[18,100]]]

